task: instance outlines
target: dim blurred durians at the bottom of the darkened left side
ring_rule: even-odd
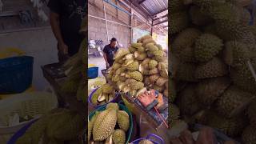
[[[17,144],[35,143],[82,143],[78,136],[82,134],[86,122],[81,115],[67,109],[54,109],[34,122]]]

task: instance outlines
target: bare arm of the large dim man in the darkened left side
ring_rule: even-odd
[[[63,54],[67,54],[68,47],[66,43],[63,41],[61,28],[59,25],[59,14],[50,12],[50,26],[53,30],[54,36],[58,41],[58,48]]]

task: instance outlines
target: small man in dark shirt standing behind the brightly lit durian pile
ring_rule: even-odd
[[[117,42],[117,38],[111,38],[110,44],[106,45],[103,49],[106,69],[111,67],[114,63],[114,54],[118,51]]]

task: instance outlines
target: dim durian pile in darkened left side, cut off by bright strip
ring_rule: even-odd
[[[86,16],[87,17],[87,16]],[[86,32],[86,18],[82,21],[82,32]],[[65,93],[76,94],[78,101],[86,102],[86,68],[87,68],[87,38],[81,43],[77,54],[74,54],[63,65],[66,80],[62,83],[61,90]]]

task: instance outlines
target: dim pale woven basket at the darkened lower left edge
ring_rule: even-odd
[[[48,111],[58,106],[57,98],[54,94],[47,92],[30,92],[14,94],[10,98],[0,101],[0,143],[6,143],[23,126],[46,114]],[[8,126],[9,118],[14,114],[20,117],[26,115],[36,116],[30,121],[21,122],[16,126]]]

